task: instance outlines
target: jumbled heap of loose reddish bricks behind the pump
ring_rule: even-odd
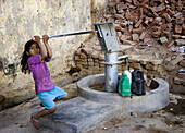
[[[150,35],[162,45],[180,47],[185,45],[184,5],[183,0],[108,0],[102,22],[114,22],[122,44],[127,39],[145,44]]]

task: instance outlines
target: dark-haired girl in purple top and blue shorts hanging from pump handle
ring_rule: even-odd
[[[41,130],[38,119],[42,116],[53,113],[57,110],[54,101],[66,99],[67,93],[54,86],[50,78],[50,73],[46,64],[52,57],[51,48],[48,45],[49,36],[42,36],[46,48],[41,44],[39,36],[34,37],[34,40],[28,40],[25,44],[21,68],[25,74],[27,72],[33,73],[36,95],[41,100],[40,106],[45,106],[44,110],[30,117],[33,125],[37,130]]]

